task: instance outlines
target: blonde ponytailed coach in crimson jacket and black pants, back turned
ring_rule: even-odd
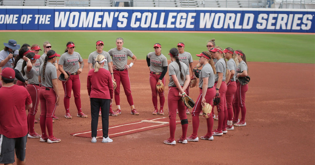
[[[88,74],[87,88],[91,102],[91,129],[92,143],[96,143],[97,124],[99,111],[102,113],[102,143],[112,142],[108,137],[108,113],[109,106],[113,101],[113,83],[110,72],[103,68],[106,59],[102,55],[98,55],[95,59],[95,67]]]

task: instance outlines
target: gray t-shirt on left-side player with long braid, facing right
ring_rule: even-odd
[[[39,75],[41,76],[41,78],[43,77],[43,66],[44,64],[42,64],[39,68]],[[52,88],[53,87],[52,79],[57,79],[57,70],[52,63],[47,62],[45,69],[45,80],[43,80],[42,78],[42,85],[45,87]]]

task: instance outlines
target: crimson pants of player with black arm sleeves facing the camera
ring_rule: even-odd
[[[163,109],[164,102],[165,102],[164,91],[163,92],[157,92],[157,89],[156,89],[157,81],[159,80],[160,76],[161,75],[150,73],[150,77],[149,77],[149,82],[150,82],[151,91],[152,91],[152,102],[153,102],[154,109],[157,109],[157,110],[158,110],[158,108],[157,108],[157,94],[160,97],[160,109]],[[163,77],[162,83],[165,85],[165,77]]]

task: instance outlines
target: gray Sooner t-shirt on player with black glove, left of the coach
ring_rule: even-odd
[[[82,61],[83,59],[78,52],[73,52],[72,55],[65,52],[61,55],[58,64],[63,65],[63,70],[76,73],[77,70],[80,69],[80,62]]]

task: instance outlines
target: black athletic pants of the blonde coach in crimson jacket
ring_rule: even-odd
[[[97,136],[97,124],[98,124],[99,112],[101,108],[103,137],[107,138],[110,99],[90,98],[90,102],[91,102],[92,137]]]

